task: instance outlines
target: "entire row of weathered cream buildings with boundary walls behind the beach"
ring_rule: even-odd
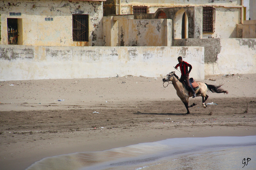
[[[254,0],[2,0],[0,80],[162,76],[179,55],[198,79],[255,73],[255,9]]]

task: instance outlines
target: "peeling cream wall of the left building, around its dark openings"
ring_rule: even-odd
[[[10,12],[20,16],[12,16]],[[0,1],[1,41],[8,44],[7,18],[19,18],[19,45],[102,46],[103,3],[98,1],[33,0]],[[89,42],[73,41],[72,14],[89,15]],[[52,18],[52,21],[45,21]],[[21,37],[22,36],[22,37]]]

